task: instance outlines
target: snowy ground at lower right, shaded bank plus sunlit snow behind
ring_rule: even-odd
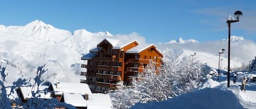
[[[216,76],[209,78],[195,91],[182,94],[162,102],[138,103],[132,109],[156,108],[256,108],[256,82],[248,82],[246,91],[241,91],[241,80],[227,88],[227,75],[217,80]]]

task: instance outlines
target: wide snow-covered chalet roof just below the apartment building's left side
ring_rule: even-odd
[[[52,88],[55,94],[62,94],[63,92],[79,94],[92,93],[89,86],[82,83],[59,82],[58,87],[57,84],[52,84]]]

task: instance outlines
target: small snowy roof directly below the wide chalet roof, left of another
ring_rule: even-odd
[[[78,93],[63,93],[64,102],[75,107],[86,107],[87,101]]]

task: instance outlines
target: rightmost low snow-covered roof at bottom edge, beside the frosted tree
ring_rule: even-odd
[[[88,97],[87,109],[110,109],[112,107],[109,94],[92,93]]]

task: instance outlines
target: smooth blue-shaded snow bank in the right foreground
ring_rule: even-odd
[[[236,95],[229,90],[219,88],[204,88],[163,101],[138,103],[132,109],[162,109],[162,108],[244,108]]]

